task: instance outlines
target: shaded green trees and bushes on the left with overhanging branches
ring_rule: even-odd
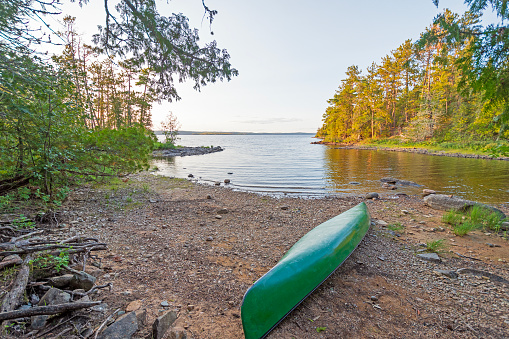
[[[61,31],[48,24],[62,14],[58,0],[0,2],[0,207],[58,204],[80,180],[147,168],[153,103],[180,99],[175,81],[200,89],[237,75],[184,15],[163,16],[153,0],[115,3],[104,2],[105,25],[87,45],[74,18]],[[212,22],[216,11],[203,7]],[[48,45],[63,52],[50,56]]]

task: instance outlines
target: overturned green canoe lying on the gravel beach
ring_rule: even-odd
[[[369,229],[365,203],[318,225],[251,286],[241,306],[246,339],[265,337],[355,250]]]

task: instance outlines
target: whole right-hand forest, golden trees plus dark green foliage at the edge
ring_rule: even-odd
[[[460,17],[445,10],[418,41],[405,41],[364,72],[348,67],[317,137],[338,143],[480,143],[507,152],[509,30],[480,25],[489,3],[498,3],[503,23],[506,2],[465,2],[471,11]]]

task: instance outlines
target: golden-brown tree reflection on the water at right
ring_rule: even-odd
[[[380,191],[380,179],[394,177],[467,199],[509,202],[509,162],[327,148],[324,152],[327,188],[338,192]],[[349,185],[360,182],[359,186]],[[417,194],[420,189],[398,187],[397,192]]]

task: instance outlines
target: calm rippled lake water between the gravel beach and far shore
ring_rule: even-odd
[[[224,151],[154,160],[157,174],[271,195],[419,194],[423,188],[491,204],[509,204],[509,161],[429,156],[405,152],[346,150],[313,145],[305,135],[182,135],[185,146]],[[228,174],[232,173],[232,174]],[[380,178],[414,181],[421,188],[388,191]],[[358,184],[356,184],[358,183]]]

